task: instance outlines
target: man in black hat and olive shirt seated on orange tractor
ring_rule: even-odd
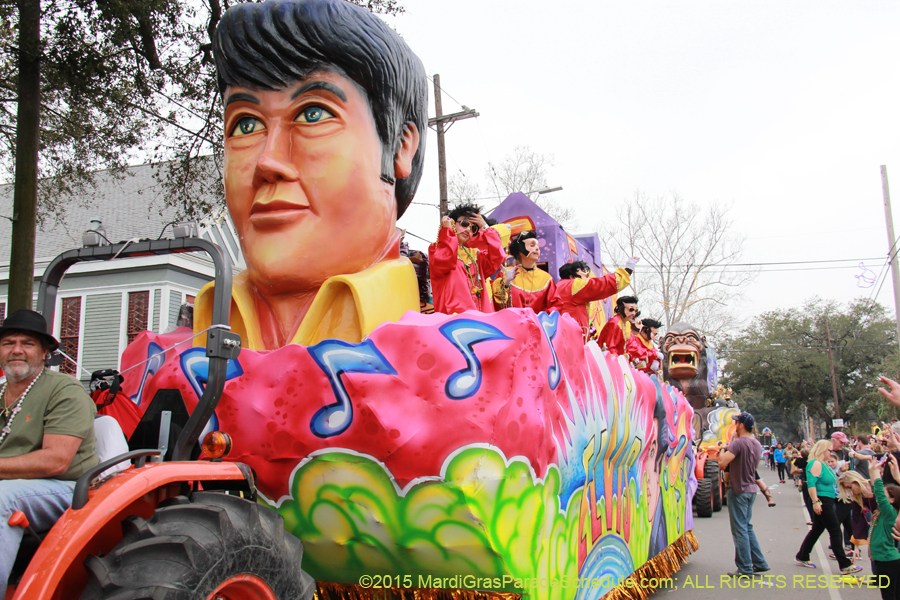
[[[0,326],[0,582],[12,571],[25,530],[10,516],[25,513],[47,531],[72,504],[75,481],[99,463],[94,402],[74,377],[44,367],[59,342],[44,317],[17,310]]]

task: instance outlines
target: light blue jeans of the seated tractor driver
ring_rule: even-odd
[[[10,527],[9,517],[21,510],[37,532],[50,530],[72,504],[74,481],[7,479],[0,481],[0,584],[6,585],[25,530]]]

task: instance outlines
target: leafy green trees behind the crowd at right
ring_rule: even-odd
[[[833,406],[829,335],[840,415]],[[814,299],[802,308],[764,313],[719,352],[724,382],[738,403],[747,399],[759,410],[781,411],[786,433],[795,423],[799,427],[801,406],[829,426],[837,416],[867,422],[885,410],[875,391],[878,376],[896,374],[898,365],[896,323],[866,299],[846,307]]]

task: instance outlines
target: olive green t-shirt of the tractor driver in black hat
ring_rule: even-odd
[[[80,437],[81,445],[69,470],[58,479],[75,480],[96,466],[97,439],[94,415],[97,407],[84,387],[70,375],[44,369],[22,402],[9,435],[0,444],[0,458],[22,456],[43,446],[44,434]],[[2,414],[0,423],[5,425]]]

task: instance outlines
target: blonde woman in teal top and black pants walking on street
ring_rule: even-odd
[[[837,478],[825,461],[831,454],[831,442],[819,440],[809,451],[809,462],[806,465],[806,486],[813,503],[813,526],[800,544],[797,552],[796,563],[801,567],[815,569],[816,565],[810,562],[809,553],[819,540],[819,536],[826,529],[831,538],[831,549],[838,561],[841,573],[849,575],[862,571],[862,567],[856,566],[844,553],[844,542],[841,539],[841,525],[838,523],[837,514],[834,511],[834,489]]]

